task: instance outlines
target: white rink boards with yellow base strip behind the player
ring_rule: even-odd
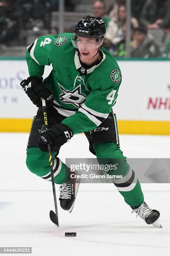
[[[119,133],[170,135],[170,61],[118,61],[122,72],[116,105]],[[46,77],[51,67],[45,69]],[[0,60],[0,131],[28,132],[37,108],[20,82],[24,59]]]

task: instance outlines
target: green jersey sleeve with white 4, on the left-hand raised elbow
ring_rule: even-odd
[[[30,76],[42,77],[45,65],[50,66],[51,48],[56,35],[40,36],[30,46],[26,52],[26,61]]]

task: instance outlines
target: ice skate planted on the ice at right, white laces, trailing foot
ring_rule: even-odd
[[[148,205],[143,202],[142,205],[135,207],[135,206],[130,206],[133,212],[136,212],[136,218],[139,217],[143,220],[145,220],[145,222],[147,224],[153,224],[154,227],[158,227],[158,228],[162,228],[162,226],[159,223],[159,216],[160,216],[160,212],[158,212],[157,210],[153,210],[150,207],[148,207]]]

